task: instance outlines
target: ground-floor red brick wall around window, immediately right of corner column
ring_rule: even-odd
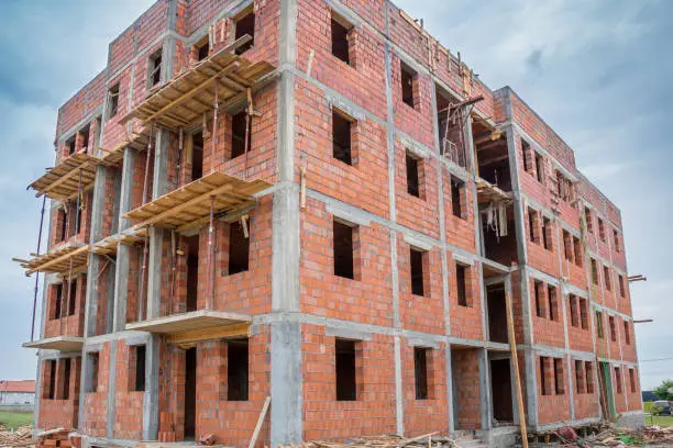
[[[304,324],[301,340],[305,440],[395,433],[391,336],[372,335],[357,343],[357,401],[335,400],[335,338],[324,327]]]

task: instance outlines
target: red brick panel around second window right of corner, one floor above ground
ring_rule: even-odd
[[[411,246],[402,238],[397,239],[397,264],[399,272],[399,309],[405,329],[430,334],[446,334],[444,302],[442,300],[441,248],[434,247],[422,253],[423,295],[411,292]]]

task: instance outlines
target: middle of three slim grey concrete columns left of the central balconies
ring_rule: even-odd
[[[119,194],[119,232],[129,228],[129,220],[122,216],[131,210],[131,198],[133,192],[133,168],[135,165],[135,149],[124,149],[124,161],[122,165],[121,189]],[[122,332],[126,325],[126,302],[129,298],[129,262],[131,248],[120,244],[117,247],[117,269],[114,270],[114,318],[113,332]]]

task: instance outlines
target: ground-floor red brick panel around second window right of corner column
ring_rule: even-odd
[[[402,339],[401,370],[405,408],[405,435],[418,436],[439,430],[449,433],[449,406],[446,405],[446,358],[445,345],[427,348],[428,399],[416,399],[413,347]]]

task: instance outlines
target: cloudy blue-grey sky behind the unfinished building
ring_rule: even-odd
[[[3,0],[0,16],[0,379],[34,376],[33,279],[40,201],[56,111],[104,68],[109,42],[150,0]],[[397,0],[493,89],[510,86],[575,149],[580,169],[621,209],[643,388],[673,378],[671,167],[673,2]],[[648,361],[670,358],[668,361]]]

